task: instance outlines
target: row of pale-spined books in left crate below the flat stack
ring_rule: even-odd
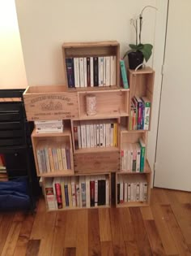
[[[70,144],[67,142],[40,141],[36,155],[40,173],[71,169]]]

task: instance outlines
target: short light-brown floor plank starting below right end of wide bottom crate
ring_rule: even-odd
[[[112,231],[108,208],[102,208],[99,212],[100,241],[112,241]]]

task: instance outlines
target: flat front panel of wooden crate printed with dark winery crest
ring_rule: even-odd
[[[28,120],[79,118],[77,93],[24,95]]]

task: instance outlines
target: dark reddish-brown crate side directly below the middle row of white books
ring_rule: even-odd
[[[119,151],[74,154],[76,174],[119,171]]]

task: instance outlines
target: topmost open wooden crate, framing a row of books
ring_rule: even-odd
[[[66,58],[74,57],[98,57],[98,56],[116,56],[116,85],[120,86],[120,44],[117,41],[95,41],[95,42],[75,42],[63,43],[62,57],[64,66],[64,84],[68,86],[66,74]],[[78,90],[84,88],[78,88]],[[91,90],[91,87],[86,87],[86,90]],[[100,89],[100,88],[99,88]]]

